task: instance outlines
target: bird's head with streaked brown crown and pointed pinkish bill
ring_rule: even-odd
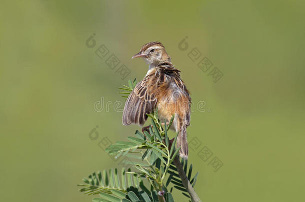
[[[132,56],[131,59],[142,57],[147,64],[158,65],[163,62],[170,62],[170,57],[162,43],[154,41],[143,45],[138,53]]]

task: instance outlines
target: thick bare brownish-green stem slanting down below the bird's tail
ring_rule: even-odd
[[[184,173],[183,167],[179,161],[179,156],[175,156],[174,160],[173,160],[173,164],[176,166],[176,169],[178,171],[178,174],[180,176],[180,179],[182,181],[182,184],[184,186],[184,188],[186,189],[186,191],[188,192],[191,200],[193,202],[201,202],[201,200],[199,199],[198,195],[196,194],[196,192],[194,191],[193,187],[191,186],[191,184],[189,183],[186,174]]]

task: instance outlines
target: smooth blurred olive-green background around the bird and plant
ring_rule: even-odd
[[[142,79],[130,57],[161,41],[191,91],[189,162],[205,202],[305,201],[304,1],[2,0],[0,6],[1,201],[89,202],[76,184],[117,167],[98,147],[125,140],[113,109],[120,84]],[[86,39],[95,33],[96,46]],[[178,43],[188,36],[186,51]],[[104,44],[131,73],[121,79],[95,49]],[[190,60],[193,48],[222,73],[214,83]],[[107,55],[109,56],[109,55]],[[97,112],[93,104],[111,102]],[[98,125],[99,138],[88,133]],[[173,133],[171,133],[173,136]],[[206,146],[223,166],[197,153]],[[178,202],[180,194],[174,193]]]

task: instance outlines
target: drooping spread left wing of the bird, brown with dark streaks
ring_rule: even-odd
[[[157,99],[155,96],[154,79],[152,75],[146,76],[138,82],[129,94],[124,110],[123,125],[138,124],[142,126],[149,114],[155,108]]]

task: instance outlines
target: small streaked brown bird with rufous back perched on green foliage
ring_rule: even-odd
[[[169,122],[174,115],[171,130],[178,133],[176,145],[180,147],[179,156],[188,157],[186,128],[190,124],[191,98],[180,71],[171,63],[161,42],[144,44],[140,51],[132,56],[143,58],[148,71],[129,94],[123,109],[122,124],[143,126],[147,114],[157,109],[158,119]]]

